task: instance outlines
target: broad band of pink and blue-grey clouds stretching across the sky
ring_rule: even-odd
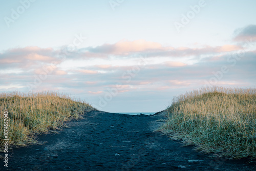
[[[253,34],[249,27],[239,32],[237,39]],[[0,91],[28,91],[28,84],[47,75],[34,91],[72,92],[90,97],[92,104],[97,104],[98,97],[119,86],[116,99],[133,96],[142,100],[151,95],[157,98],[158,94],[167,99],[174,90],[198,88],[205,80],[220,76],[223,66],[228,72],[222,73],[219,86],[253,86],[256,51],[244,50],[237,55],[241,50],[242,46],[231,41],[216,47],[174,48],[146,40],[121,40],[77,49],[61,59],[60,50],[52,48],[9,49],[0,54]],[[140,63],[139,56],[144,56],[146,63]],[[135,66],[139,72],[135,72]],[[50,74],[46,72],[49,70]],[[129,74],[134,75],[131,80]]]

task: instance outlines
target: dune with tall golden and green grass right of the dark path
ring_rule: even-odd
[[[196,149],[256,158],[256,89],[202,88],[173,99],[161,130]]]

